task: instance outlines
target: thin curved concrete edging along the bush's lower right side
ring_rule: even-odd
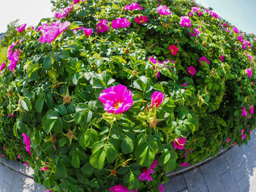
[[[186,167],[184,169],[179,169],[177,172],[170,172],[167,173],[166,176],[169,177],[169,179],[173,178],[173,177],[177,177],[180,174],[184,174],[187,172],[192,171],[193,169],[199,168],[200,166],[203,166],[204,164],[207,164],[210,161],[213,161],[214,159],[218,158],[219,156],[223,155],[224,153],[226,153],[228,150],[230,150],[233,146],[227,147],[224,150],[219,151],[219,153],[217,153],[217,155],[215,155],[214,157],[209,157],[206,158],[204,161],[200,161],[199,163]]]

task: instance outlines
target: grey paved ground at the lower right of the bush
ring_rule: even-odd
[[[256,192],[256,130],[247,145],[170,179],[165,192]]]

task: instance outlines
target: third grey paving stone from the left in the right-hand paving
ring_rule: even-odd
[[[209,192],[225,192],[225,187],[213,161],[201,166],[200,171],[203,174]]]

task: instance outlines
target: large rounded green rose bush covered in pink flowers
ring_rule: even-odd
[[[70,3],[18,28],[1,76],[1,153],[34,180],[162,191],[163,172],[249,139],[252,38],[192,1]]]

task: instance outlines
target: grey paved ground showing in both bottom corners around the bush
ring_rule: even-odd
[[[30,177],[33,170],[12,161],[0,162],[0,192],[44,192]],[[256,192],[256,130],[248,145],[235,146],[200,168],[181,174],[165,183],[165,192]]]

